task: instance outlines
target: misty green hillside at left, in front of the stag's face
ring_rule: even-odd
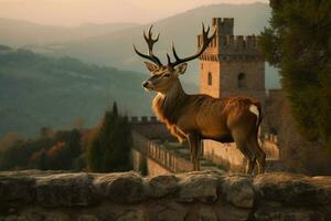
[[[0,46],[0,136],[70,127],[77,118],[90,126],[114,101],[128,115],[149,115],[150,95],[140,86],[146,77]]]

